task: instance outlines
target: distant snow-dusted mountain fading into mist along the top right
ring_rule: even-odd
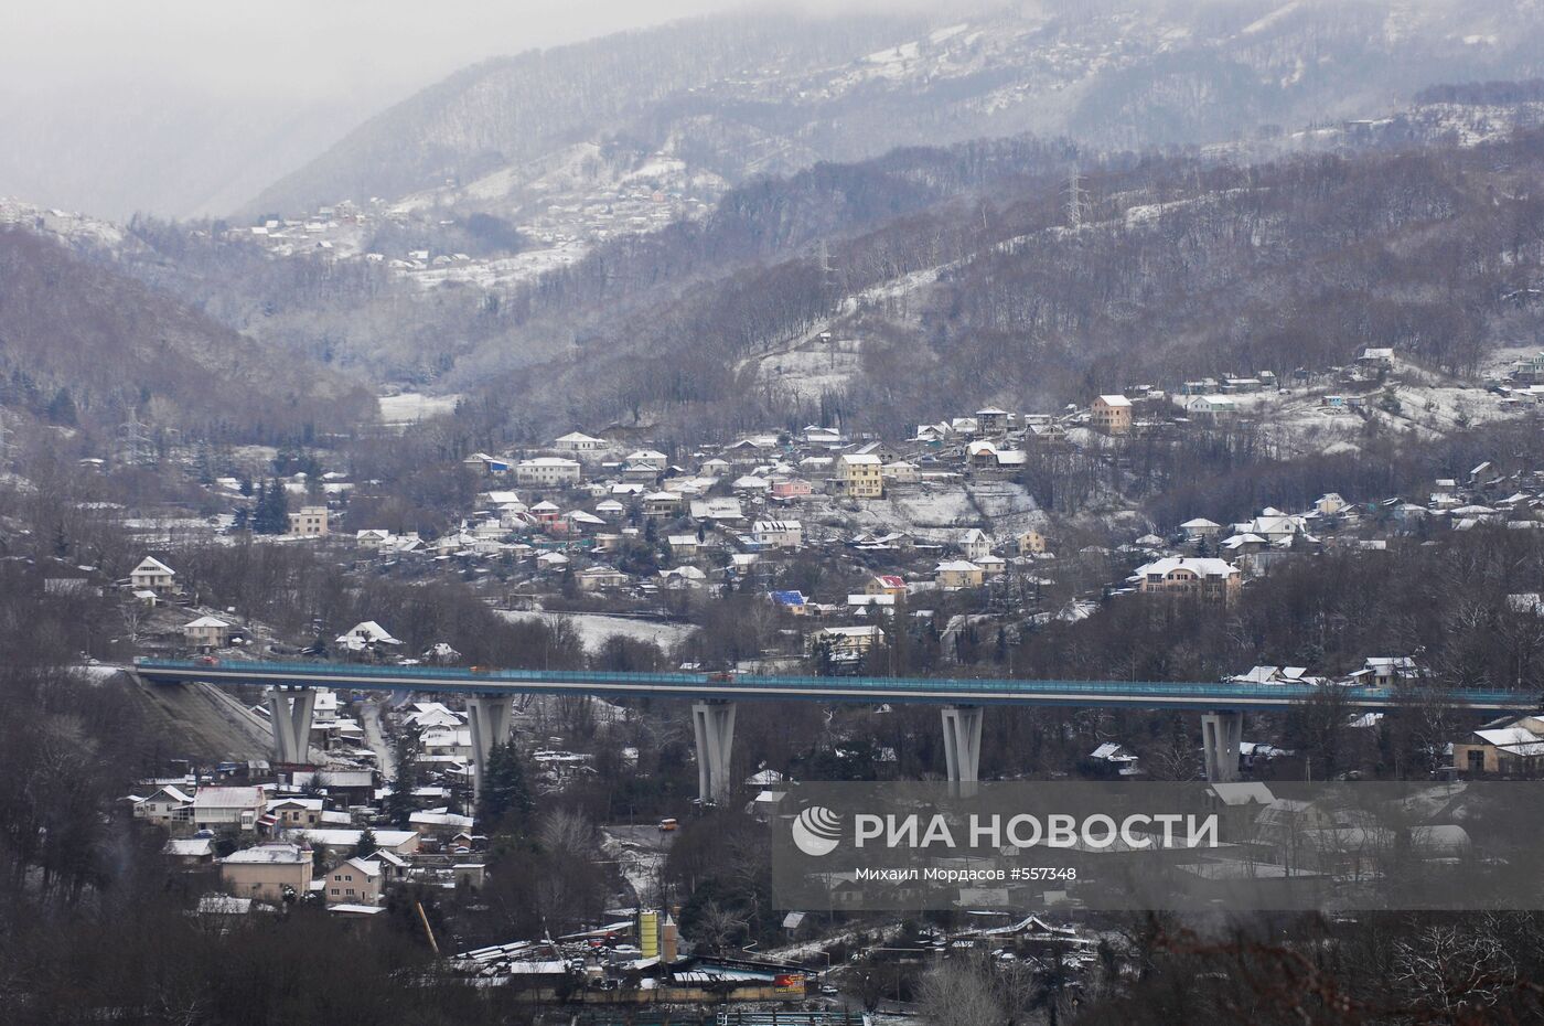
[[[249,213],[414,196],[528,219],[531,204],[573,195],[576,176],[706,202],[753,175],[897,145],[1021,131],[1099,148],[1223,142],[1380,113],[1436,82],[1541,73],[1538,0],[735,14],[468,68],[360,127]]]

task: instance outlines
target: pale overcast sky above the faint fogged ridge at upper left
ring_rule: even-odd
[[[0,0],[0,90],[406,93],[462,65],[740,0]]]

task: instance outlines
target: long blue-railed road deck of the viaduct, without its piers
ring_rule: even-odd
[[[411,689],[462,694],[585,694],[607,698],[804,700],[926,705],[1126,706],[1141,709],[1285,709],[1322,694],[1314,685],[1234,685],[1129,680],[990,680],[960,677],[750,677],[709,674],[618,674],[602,671],[472,671],[440,666],[283,663],[242,660],[137,660],[145,680],[199,680],[216,686],[279,685]],[[1390,709],[1393,688],[1342,688],[1348,708]],[[1430,702],[1430,695],[1427,697]],[[1515,691],[1458,691],[1442,700],[1485,711],[1530,709],[1538,697]]]

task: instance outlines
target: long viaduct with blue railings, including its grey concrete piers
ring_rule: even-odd
[[[134,661],[134,672],[151,683],[202,681],[221,688],[253,685],[269,688],[273,749],[279,762],[306,762],[317,688],[466,695],[474,786],[480,786],[482,766],[489,749],[510,736],[516,695],[681,698],[692,703],[698,788],[704,800],[724,800],[729,796],[729,756],[733,748],[735,709],[740,702],[942,706],[948,779],[968,785],[977,780],[980,768],[980,726],[985,706],[1192,709],[1201,714],[1206,777],[1232,780],[1238,774],[1238,743],[1246,711],[1282,711],[1325,694],[1325,688],[1305,683],[619,674],[215,658],[141,658]],[[1334,688],[1346,709],[1393,709],[1405,702],[1396,688],[1388,686]],[[1425,692],[1422,700],[1481,712],[1521,711],[1536,703],[1532,692],[1518,691],[1448,691],[1436,695]]]

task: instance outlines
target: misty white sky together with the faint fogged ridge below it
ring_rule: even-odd
[[[0,0],[0,196],[119,219],[225,213],[457,68],[736,6]]]

